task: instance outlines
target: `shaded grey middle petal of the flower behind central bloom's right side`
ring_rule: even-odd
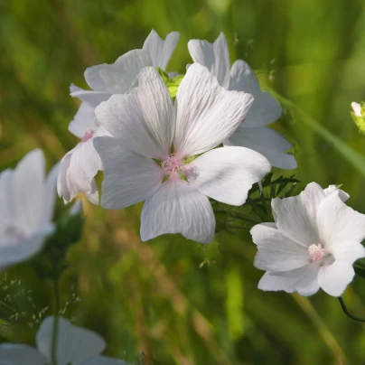
[[[267,126],[275,122],[283,112],[276,98],[268,92],[261,91],[254,71],[245,61],[238,60],[233,63],[230,69],[229,90],[245,91],[254,97],[254,102],[243,121],[244,127]]]

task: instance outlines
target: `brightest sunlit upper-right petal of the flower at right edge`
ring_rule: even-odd
[[[321,203],[317,224],[321,242],[332,250],[343,242],[360,242],[365,238],[365,214],[348,207],[337,194],[331,194]]]

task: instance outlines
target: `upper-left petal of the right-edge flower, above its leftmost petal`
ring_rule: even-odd
[[[298,196],[273,199],[271,207],[277,228],[289,239],[308,248],[320,242],[317,210],[325,194],[316,182],[309,183]]]

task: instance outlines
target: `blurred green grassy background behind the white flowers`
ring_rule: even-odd
[[[68,132],[79,105],[70,83],[86,88],[87,67],[141,48],[152,28],[181,33],[168,67],[180,72],[190,39],[212,42],[223,31],[231,62],[248,61],[312,118],[285,108],[275,127],[295,144],[299,167],[276,174],[295,173],[296,193],[307,182],[343,183],[348,203],[365,212],[365,136],[350,116],[351,101],[365,99],[363,0],[0,0],[1,170],[35,147],[50,167],[61,160],[78,142]],[[209,247],[181,236],[142,243],[140,209],[85,201],[84,237],[61,279],[65,315],[103,335],[108,355],[141,364],[365,363],[364,324],[336,298],[257,290],[263,273],[252,265],[248,230]],[[50,283],[25,263],[0,284],[0,299],[33,326],[19,324],[22,341],[33,343],[39,313],[54,307]],[[361,279],[344,299],[365,316]]]

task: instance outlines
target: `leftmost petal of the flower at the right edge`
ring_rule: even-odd
[[[267,271],[286,271],[310,263],[307,249],[285,237],[278,229],[257,224],[250,233],[258,249],[255,267]]]

